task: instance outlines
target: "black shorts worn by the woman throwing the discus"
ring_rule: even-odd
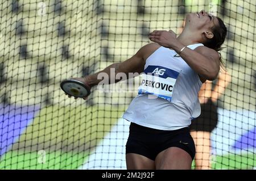
[[[192,160],[196,149],[189,128],[181,128],[174,131],[163,131],[143,127],[131,123],[130,133],[126,143],[126,154],[136,153],[155,161],[156,156],[167,148],[177,147],[187,151]]]

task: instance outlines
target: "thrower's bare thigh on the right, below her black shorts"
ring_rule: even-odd
[[[192,158],[189,153],[181,148],[171,147],[161,151],[156,159],[156,169],[190,170]]]

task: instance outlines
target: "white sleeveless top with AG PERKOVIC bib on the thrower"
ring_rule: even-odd
[[[187,46],[195,49],[203,44]],[[146,60],[138,96],[123,118],[148,128],[175,130],[188,127],[201,113],[199,75],[177,53],[159,47]]]

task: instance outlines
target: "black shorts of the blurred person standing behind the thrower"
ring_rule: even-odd
[[[191,121],[191,131],[212,132],[217,127],[218,112],[217,106],[208,99],[208,102],[201,104],[201,115]]]

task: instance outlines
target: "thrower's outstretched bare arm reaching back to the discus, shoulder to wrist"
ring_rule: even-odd
[[[112,64],[106,67],[104,70],[101,70],[95,74],[87,75],[86,77],[84,77],[83,82],[86,82],[87,85],[92,87],[92,86],[98,85],[98,83],[103,81],[103,78],[106,78],[106,77],[109,78],[109,80],[107,80],[109,83],[116,83],[121,80],[124,80],[123,77],[121,79],[115,78],[118,73],[125,73],[127,78],[131,78],[129,76],[129,73],[133,73],[133,77],[135,77],[143,72],[147,57],[149,57],[150,54],[155,52],[155,50],[158,49],[159,47],[160,45],[157,43],[150,43],[150,44],[144,45],[131,58],[120,63]],[[110,80],[110,71],[112,71],[112,74],[114,74],[114,76],[113,75],[111,76],[114,78],[114,80]],[[108,75],[108,76],[103,77],[100,75],[101,73],[104,73],[105,75]],[[135,74],[135,73],[138,73],[138,74]]]

